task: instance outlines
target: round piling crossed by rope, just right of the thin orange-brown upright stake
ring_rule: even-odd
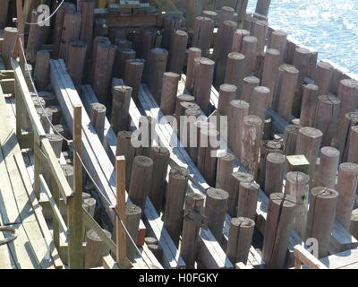
[[[138,229],[141,222],[141,207],[135,204],[125,204],[125,227],[131,235],[132,239],[137,239]],[[127,234],[127,238],[125,240],[127,253],[126,256],[128,260],[134,262],[134,257],[136,253],[136,248],[133,246],[132,240],[129,238]]]

